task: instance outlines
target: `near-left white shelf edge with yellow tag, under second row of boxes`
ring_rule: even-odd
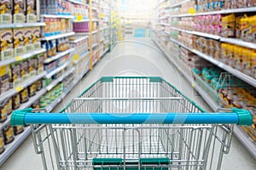
[[[40,49],[34,50],[32,52],[22,54],[20,56],[16,56],[15,58],[4,59],[4,60],[0,61],[0,66],[9,65],[9,64],[15,63],[17,61],[23,60],[23,59],[28,59],[28,58],[30,58],[34,55],[41,54],[41,53],[44,53],[44,52],[46,52],[46,49],[45,48],[40,48]]]

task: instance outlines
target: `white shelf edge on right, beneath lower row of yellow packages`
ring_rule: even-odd
[[[253,77],[249,77],[246,74],[242,73],[241,71],[237,71],[236,69],[230,67],[230,65],[225,65],[224,63],[213,59],[212,57],[208,56],[207,54],[203,54],[198,50],[191,49],[187,46],[185,46],[183,43],[178,42],[177,40],[174,40],[173,38],[170,38],[172,42],[176,42],[178,45],[182,46],[183,48],[188,49],[189,51],[193,52],[194,54],[199,55],[201,58],[206,59],[207,61],[210,61],[212,64],[217,65],[219,68],[222,68],[224,71],[230,72],[232,75],[240,78],[244,82],[247,82],[248,84],[252,85],[254,88],[256,88],[256,79]]]

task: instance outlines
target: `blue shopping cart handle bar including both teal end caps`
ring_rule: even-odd
[[[238,124],[252,125],[249,111],[231,113],[41,113],[14,111],[12,125],[26,124]]]

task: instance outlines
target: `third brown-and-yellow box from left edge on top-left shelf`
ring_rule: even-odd
[[[35,0],[26,0],[26,22],[37,22]]]

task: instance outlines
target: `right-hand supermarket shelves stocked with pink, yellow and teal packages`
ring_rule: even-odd
[[[162,2],[155,8],[155,42],[214,111],[237,107],[255,115],[254,6],[252,1],[183,0]],[[197,67],[191,67],[195,65],[191,61]],[[256,157],[254,127],[235,127],[234,132]]]

